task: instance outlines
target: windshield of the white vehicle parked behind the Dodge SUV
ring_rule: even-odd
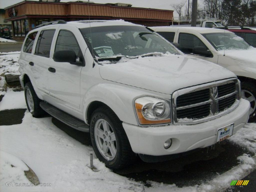
[[[216,50],[249,49],[250,45],[233,33],[206,33],[202,34]]]

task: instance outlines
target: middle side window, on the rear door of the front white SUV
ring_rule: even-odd
[[[54,33],[55,29],[41,31],[39,38],[37,40],[35,54],[44,57],[50,56],[51,42]]]

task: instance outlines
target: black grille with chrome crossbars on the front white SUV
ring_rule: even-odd
[[[234,81],[236,80],[208,86],[199,91],[178,94],[174,115],[177,119],[174,120],[176,122],[183,122],[183,118],[200,120],[230,108],[237,99],[237,86]]]

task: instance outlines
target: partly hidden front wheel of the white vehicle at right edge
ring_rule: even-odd
[[[256,121],[256,87],[254,83],[242,82],[241,83],[241,97],[250,102],[250,117],[249,122]]]

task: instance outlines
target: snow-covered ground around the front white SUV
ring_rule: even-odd
[[[0,68],[0,73],[6,72],[6,69],[18,72],[18,64],[13,66],[8,61],[10,59],[4,59],[7,57],[0,56],[0,66],[5,66]],[[17,61],[18,55],[12,58]],[[26,108],[24,92],[14,92],[8,88],[0,102],[0,110],[14,108]],[[255,153],[256,123],[247,124],[229,140]],[[60,130],[52,123],[51,117],[33,118],[26,111],[22,124],[0,126],[0,191],[142,191],[141,183],[113,173],[95,158],[94,153],[94,166],[100,171],[93,172],[87,166],[90,153],[93,153],[91,146],[81,144]],[[232,180],[243,178],[256,167],[255,155],[243,154],[237,157],[237,161],[237,166],[201,185],[195,183],[177,187],[175,184],[151,182],[152,186],[145,187],[145,191],[223,191],[230,187]],[[51,186],[6,186],[7,182],[31,184],[24,176],[27,167],[23,162],[33,169],[40,183],[50,183]]]

